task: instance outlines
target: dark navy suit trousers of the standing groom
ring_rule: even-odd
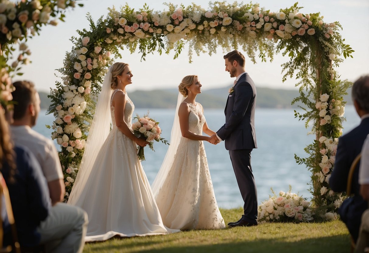
[[[245,202],[241,219],[255,224],[258,218],[258,197],[251,168],[251,151],[252,149],[229,150],[229,154],[238,188]]]

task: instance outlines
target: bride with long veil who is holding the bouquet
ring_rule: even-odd
[[[88,214],[86,242],[177,232],[163,225],[137,156],[136,143],[146,146],[148,142],[131,132],[134,104],[125,87],[132,76],[126,63],[110,66],[69,196],[68,204]]]

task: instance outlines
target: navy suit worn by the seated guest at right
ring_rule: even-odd
[[[329,180],[329,185],[333,191],[346,191],[347,177],[352,162],[361,152],[366,136],[369,134],[369,118],[361,121],[360,125],[354,128],[351,132],[341,136],[338,141],[336,161],[334,169]],[[360,195],[359,185],[359,164],[355,169],[352,178],[351,191],[354,194],[351,205],[342,213],[339,210],[341,218],[344,219],[348,230],[352,237],[358,238],[359,227],[361,223],[361,215],[368,208],[368,202],[364,201]]]

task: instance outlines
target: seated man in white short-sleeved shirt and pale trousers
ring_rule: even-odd
[[[26,146],[36,156],[48,182],[52,209],[38,227],[41,244],[47,252],[82,252],[87,231],[87,214],[83,209],[62,203],[65,186],[58,152],[51,140],[31,129],[40,111],[40,99],[34,84],[13,83],[14,122],[11,135],[16,145]],[[17,222],[17,221],[15,221]]]

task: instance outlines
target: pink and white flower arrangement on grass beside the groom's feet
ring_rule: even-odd
[[[264,222],[308,222],[313,220],[310,202],[296,193],[273,192],[273,196],[261,203],[258,207],[258,221]]]

